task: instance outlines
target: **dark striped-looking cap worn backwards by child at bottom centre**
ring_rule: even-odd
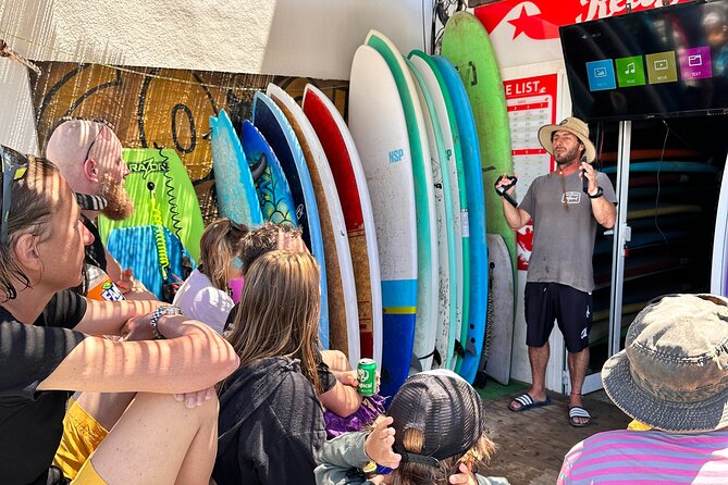
[[[403,462],[439,468],[440,460],[469,450],[485,433],[483,401],[462,377],[448,370],[415,374],[399,388],[387,415],[394,419],[395,452]],[[419,453],[402,443],[405,431],[423,434]]]

